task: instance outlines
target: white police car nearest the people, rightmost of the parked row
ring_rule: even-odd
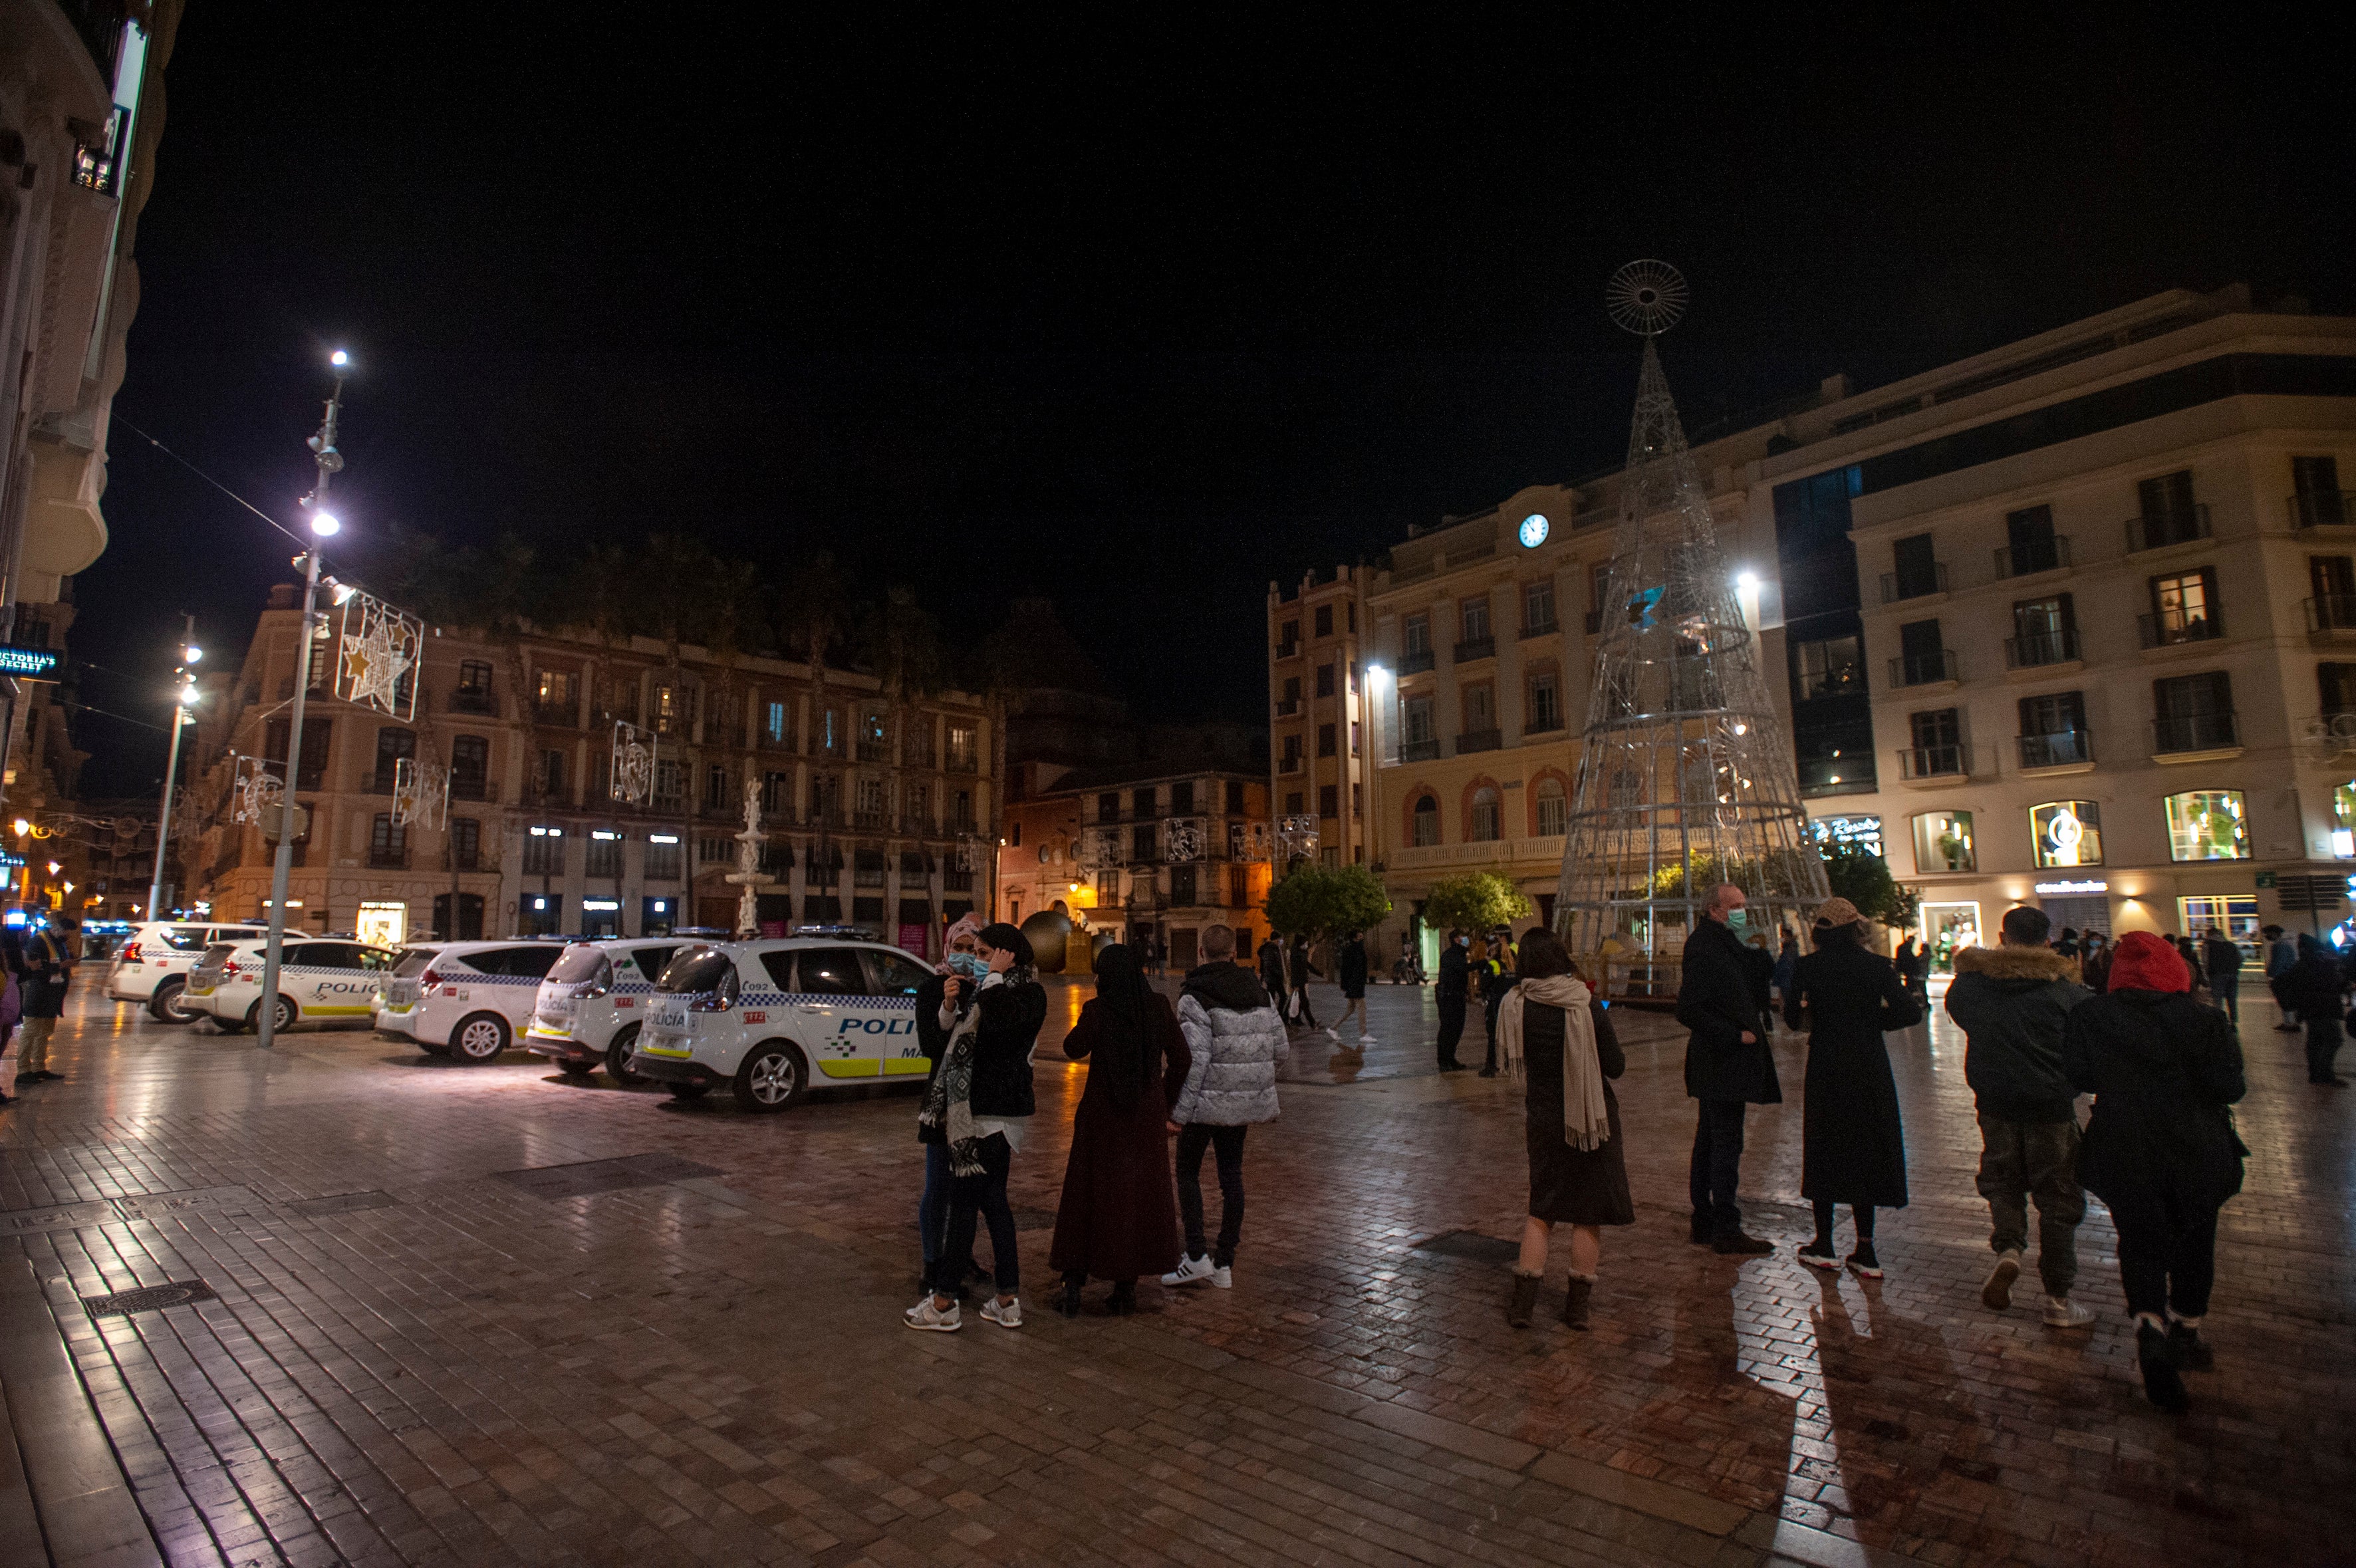
[[[912,954],[843,937],[686,946],[655,982],[629,1069],[679,1099],[726,1083],[747,1111],[834,1083],[921,1078],[916,986],[931,975]]]

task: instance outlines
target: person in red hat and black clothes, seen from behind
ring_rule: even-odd
[[[2217,1210],[2241,1191],[2250,1154],[2231,1111],[2248,1092],[2241,1041],[2189,991],[2184,958],[2135,930],[2118,939],[2109,994],[2073,1008],[2062,1031],[2062,1064],[2094,1097],[2078,1172],[2118,1227],[2135,1361],[2163,1410],[2184,1410],[2184,1373],[2217,1361],[2201,1337]]]

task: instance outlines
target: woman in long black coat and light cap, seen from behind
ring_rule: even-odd
[[[1783,1022],[1807,1029],[1807,1114],[1800,1132],[1800,1196],[1816,1205],[1816,1238],[1800,1262],[1838,1269],[1833,1205],[1857,1222],[1849,1267],[1880,1278],[1873,1210],[1906,1208],[1906,1128],[1882,1034],[1922,1019],[1897,968],[1864,949],[1864,916],[1849,899],[1816,911],[1816,951],[1793,965]]]

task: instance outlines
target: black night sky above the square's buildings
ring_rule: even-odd
[[[363,574],[391,523],[832,546],[957,636],[1051,593],[1140,709],[1258,718],[1270,577],[1621,454],[1633,257],[1692,283],[1689,426],[2165,287],[2356,304],[2344,94],[2215,28],[818,9],[191,0],[118,412],[294,516],[349,346]],[[179,612],[233,655],[287,549],[120,428],[106,516],[82,697],[160,720]],[[85,793],[160,779],[160,730],[78,737]]]

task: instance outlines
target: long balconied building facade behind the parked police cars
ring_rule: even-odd
[[[236,819],[238,779],[283,777],[299,598],[273,593],[243,669],[200,685],[181,885],[221,918],[257,918],[271,848]],[[325,647],[325,643],[320,643]],[[325,676],[325,657],[313,662]],[[766,657],[676,657],[653,638],[601,643],[457,629],[426,638],[415,720],[313,685],[297,798],[311,808],[290,923],[375,939],[733,930],[747,784],[766,845],[763,930],[855,923],[926,956],[978,904],[997,824],[987,706],[961,692],[888,697],[872,676]],[[653,793],[610,796],[613,727],[655,732]],[[405,758],[450,775],[438,829],[393,819]],[[243,770],[243,772],[240,772]],[[299,909],[297,909],[299,904]]]

